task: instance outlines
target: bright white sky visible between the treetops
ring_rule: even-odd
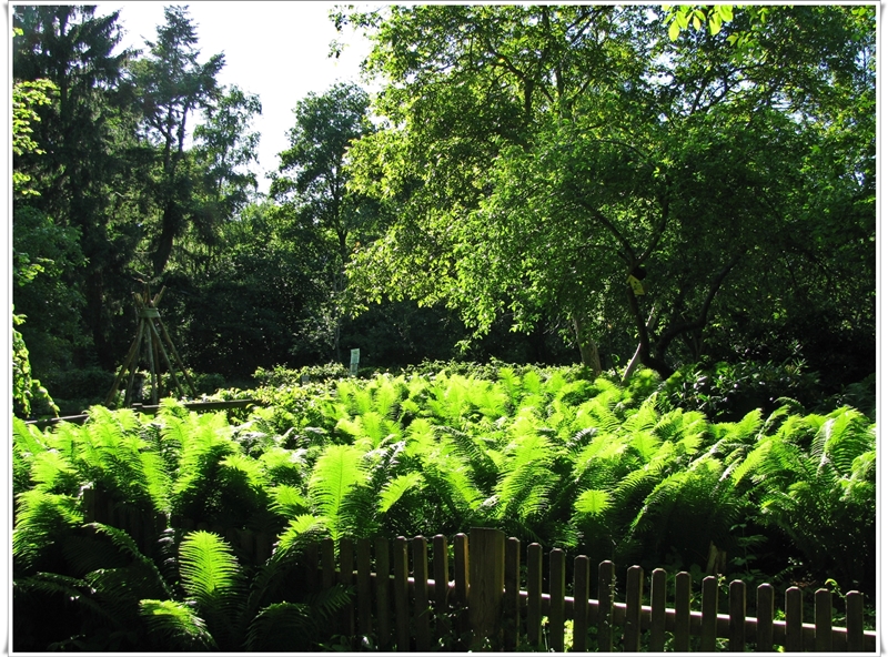
[[[323,93],[337,81],[361,84],[360,64],[370,52],[370,43],[351,28],[341,36],[336,33],[327,18],[336,2],[196,0],[97,4],[97,13],[102,16],[119,9],[118,23],[124,32],[121,46],[145,52],[144,40],[154,41],[158,26],[164,22],[163,8],[188,6],[196,27],[199,61],[224,53],[225,67],[219,81],[236,84],[259,95],[262,102],[262,115],[253,124],[253,130],[261,133],[259,165],[253,166],[261,192],[269,189],[265,173],[278,169],[278,154],[289,146],[286,133],[294,123],[296,101],[312,91]],[[346,43],[337,60],[327,57],[334,39]]]

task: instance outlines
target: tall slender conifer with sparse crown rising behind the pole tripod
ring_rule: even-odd
[[[214,54],[200,63],[196,29],[188,7],[163,10],[165,23],[158,27],[155,41],[147,41],[150,54],[133,63],[145,135],[158,149],[159,171],[154,196],[160,218],[153,236],[151,266],[160,276],[172,254],[173,243],[194,219],[192,179],[185,164],[189,120],[219,98],[216,75],[224,55]]]

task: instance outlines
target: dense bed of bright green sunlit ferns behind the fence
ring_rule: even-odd
[[[786,401],[713,422],[650,372],[627,386],[577,368],[486,374],[274,382],[249,411],[168,400],[155,416],[13,421],[13,648],[319,649],[346,596],[293,585],[310,542],[473,526],[698,579],[716,550],[726,582],[874,599],[876,432],[860,412]],[[94,522],[97,494],[159,523]],[[274,536],[274,550],[255,563],[185,529],[201,523]]]

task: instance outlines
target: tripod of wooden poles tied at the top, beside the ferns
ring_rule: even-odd
[[[123,381],[123,376],[125,376],[127,372],[130,373],[130,376],[127,380],[127,391],[123,395],[123,406],[129,406],[132,402],[132,386],[133,382],[135,381],[135,371],[139,366],[138,356],[142,343],[144,343],[149,371],[151,372],[152,404],[158,403],[158,366],[160,365],[161,356],[163,357],[163,361],[170,371],[170,377],[172,378],[175,390],[179,391],[179,395],[184,397],[185,391],[182,388],[182,384],[179,382],[179,378],[175,375],[175,367],[178,367],[184,376],[185,383],[191,392],[191,396],[196,396],[194,392],[194,384],[191,382],[191,377],[189,376],[188,372],[185,372],[182,361],[179,358],[179,353],[175,351],[172,340],[170,340],[170,334],[167,333],[167,327],[163,325],[163,322],[160,321],[160,311],[158,311],[158,304],[163,296],[164,290],[167,290],[167,287],[161,287],[161,291],[158,292],[154,299],[151,299],[151,290],[147,284],[142,294],[133,292],[137,315],[139,316],[139,328],[135,333],[135,340],[133,341],[132,346],[130,346],[130,351],[127,353],[127,357],[123,361],[123,366],[120,368],[120,372],[118,372],[118,375],[114,378],[114,385],[111,387],[111,392],[108,393],[108,397],[105,397],[105,406],[110,406],[114,401],[114,397],[118,394],[118,388],[120,387],[120,383]],[[161,335],[163,336],[162,338]],[[170,348],[169,354],[172,354],[173,361],[170,361],[170,355],[168,354],[167,348],[163,346],[164,342]],[[175,367],[173,366],[173,362],[175,363]]]

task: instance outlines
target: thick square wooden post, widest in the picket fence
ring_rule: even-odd
[[[468,621],[472,649],[502,646],[503,587],[505,584],[505,534],[500,529],[472,527],[468,534]]]

